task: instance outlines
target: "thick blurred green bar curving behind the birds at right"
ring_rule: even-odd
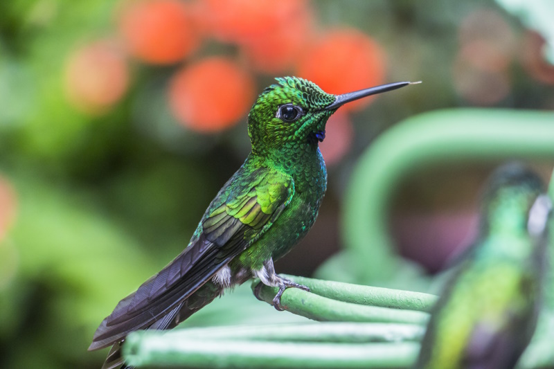
[[[449,109],[388,129],[361,156],[346,190],[342,233],[353,280],[388,280],[400,267],[386,215],[406,174],[444,162],[544,158],[554,158],[552,111]]]

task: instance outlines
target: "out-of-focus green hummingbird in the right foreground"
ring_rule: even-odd
[[[524,165],[492,175],[479,237],[434,309],[415,368],[513,368],[541,300],[551,201]]]

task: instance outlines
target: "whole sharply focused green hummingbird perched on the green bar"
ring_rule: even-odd
[[[168,330],[249,278],[308,290],[276,274],[281,258],[310,230],[327,188],[319,151],[328,118],[342,105],[415,82],[395,82],[332,95],[313,82],[276,78],[248,115],[251,152],[211,201],[188,246],[105,318],[89,350],[112,345],[103,369],[123,364],[125,336]]]

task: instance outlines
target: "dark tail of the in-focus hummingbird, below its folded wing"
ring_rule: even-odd
[[[154,322],[148,330],[170,330],[177,327],[179,323],[185,321],[186,318],[193,315],[202,307],[208,305],[214,298],[222,294],[222,287],[215,285],[215,283],[209,281],[202,287],[200,287],[194,294],[192,294],[185,301],[177,305],[168,314],[163,316],[159,321]],[[123,365],[123,357],[121,357],[121,345],[124,341],[114,343],[109,350],[108,356],[102,369],[115,369]],[[121,369],[133,369],[133,366],[123,366]]]

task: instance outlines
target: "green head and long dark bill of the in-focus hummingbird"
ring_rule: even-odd
[[[317,146],[325,138],[325,124],[341,105],[411,82],[397,82],[361,91],[332,95],[297,77],[276,78],[254,103],[248,116],[248,134],[255,154],[289,150],[299,144]]]

